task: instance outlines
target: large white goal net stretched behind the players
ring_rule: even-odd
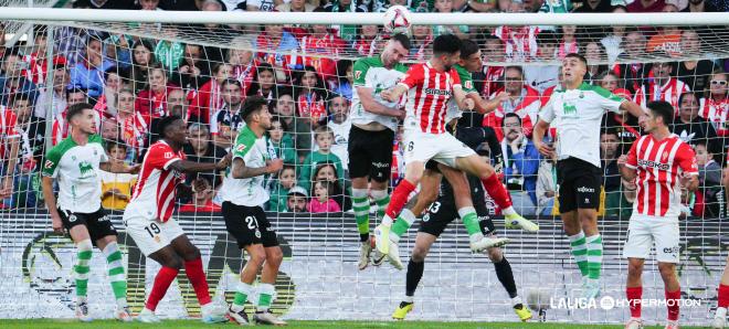
[[[433,9],[422,3],[412,9],[412,47],[403,62],[427,61],[433,39],[454,33],[480,47],[483,66],[473,72],[477,93],[487,99],[499,92],[509,95],[495,112],[466,113],[458,125],[494,131],[497,141],[489,146],[490,155],[506,172],[504,182],[515,208],[541,227],[537,234],[505,230],[498,211],[489,214],[497,234],[511,240],[503,252],[524,303],[547,321],[603,323],[630,317],[623,303],[627,264],[621,255],[635,185],[620,179],[615,161],[641,135],[637,118],[609,114],[603,119],[599,220],[604,244],[603,297],[584,308],[575,307],[571,299],[580,296],[582,283],[554,210],[553,163],[526,144],[539,109],[559,88],[561,59],[580,53],[589,61],[588,84],[642,106],[656,99],[669,102],[676,109],[673,132],[697,152],[700,188],[682,199],[680,247],[674,252],[679,253],[677,270],[686,300],[682,321],[707,322],[716,308],[716,288],[729,248],[721,183],[725,136],[729,134],[728,76],[723,73],[729,70],[729,21],[712,14],[526,14],[518,13],[524,4],[516,2],[504,9],[511,13],[504,14],[426,14],[420,12]],[[188,159],[212,162],[225,156],[244,127],[237,116],[241,103],[260,95],[274,114],[266,135],[268,151],[286,164],[279,174],[266,177],[271,201],[265,210],[285,256],[273,310],[297,320],[388,319],[404,296],[405,272],[389,264],[357,268],[360,242],[347,148],[357,78],[352,63],[379,56],[390,35],[382,29],[381,14],[324,8],[306,15],[240,17],[208,11],[104,10],[47,10],[12,17],[3,8],[0,318],[41,317],[49,307],[54,309],[53,317],[73,317],[76,252],[67,236],[53,234],[40,173],[45,152],[68,136],[65,110],[70,105],[85,102],[95,106],[97,128],[114,161],[140,163],[150,142],[159,138],[159,118],[180,115],[188,121]],[[520,15],[529,21],[519,21]],[[508,113],[519,115],[519,127],[503,124]],[[522,136],[526,138],[519,142]],[[398,131],[390,191],[404,176],[400,137]],[[211,291],[218,300],[231,301],[246,261],[220,213],[223,174],[188,176],[188,181],[203,178],[209,189],[179,195],[175,216],[201,251]],[[140,253],[122,222],[137,178],[99,176],[102,204],[109,211],[123,246],[128,300],[138,312],[159,265]],[[318,181],[329,182],[328,197],[323,200],[334,200],[340,211],[313,213],[307,208],[319,193],[315,189]],[[490,200],[484,202],[493,205]],[[376,210],[372,201],[371,229],[380,220]],[[405,264],[419,225],[401,240]],[[103,317],[114,304],[106,261],[97,251],[91,268],[91,309]],[[664,288],[654,256],[646,259],[643,282],[643,297],[657,301],[644,304],[643,317],[648,322],[663,321]],[[181,274],[158,315],[198,316],[194,296]],[[511,303],[488,255],[469,252],[465,229],[455,220],[426,257],[416,307],[409,318],[516,321]]]

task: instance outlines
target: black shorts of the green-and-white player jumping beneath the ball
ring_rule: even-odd
[[[349,177],[369,177],[378,182],[390,179],[394,132],[390,129],[369,131],[357,126],[349,130]]]

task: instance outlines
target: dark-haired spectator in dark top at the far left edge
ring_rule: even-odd
[[[14,94],[27,94],[31,103],[35,103],[38,96],[36,86],[28,79],[23,70],[25,62],[14,49],[6,50],[2,57],[2,72],[0,73],[0,105],[9,106]]]

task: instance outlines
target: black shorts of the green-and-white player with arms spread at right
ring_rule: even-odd
[[[594,164],[578,158],[560,160],[557,162],[557,183],[560,213],[600,208],[602,169]]]

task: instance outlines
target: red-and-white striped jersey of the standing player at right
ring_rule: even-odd
[[[625,166],[637,170],[634,212],[641,215],[678,217],[680,177],[698,174],[696,155],[688,144],[675,134],[659,141],[652,135],[645,135],[631,147]]]

